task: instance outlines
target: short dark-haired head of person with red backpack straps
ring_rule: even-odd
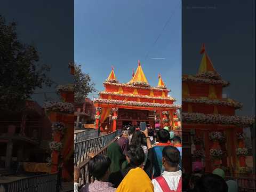
[[[180,151],[176,147],[165,146],[163,149],[163,157],[171,167],[177,167],[180,163]]]

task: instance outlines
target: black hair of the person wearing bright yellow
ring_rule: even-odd
[[[127,150],[127,157],[131,166],[139,166],[144,162],[145,154],[140,145],[130,145]]]

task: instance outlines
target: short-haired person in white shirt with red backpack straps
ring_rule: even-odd
[[[173,146],[164,147],[162,162],[165,171],[162,176],[152,180],[155,192],[181,192],[182,172],[178,167],[180,160],[180,151],[177,148]]]

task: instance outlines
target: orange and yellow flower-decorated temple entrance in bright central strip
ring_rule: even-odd
[[[138,126],[140,122],[153,128],[158,122],[161,127],[180,129],[177,116],[180,106],[174,105],[175,99],[168,94],[170,90],[161,75],[156,87],[149,85],[140,61],[130,82],[119,83],[112,68],[103,85],[105,91],[100,91],[99,98],[94,99],[95,124],[102,132],[113,132],[129,124]]]

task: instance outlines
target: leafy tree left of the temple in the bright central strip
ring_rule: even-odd
[[[89,93],[92,93],[95,90],[94,83],[91,83],[91,77],[89,74],[83,73],[81,69],[81,65],[77,65],[74,63],[75,67],[75,85],[74,85],[74,93],[75,93],[75,102],[84,102],[84,99],[87,97]]]

